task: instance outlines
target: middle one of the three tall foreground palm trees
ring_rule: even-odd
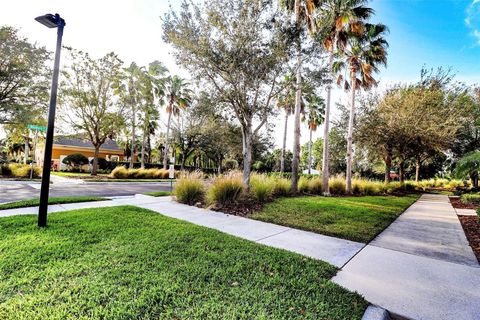
[[[321,27],[323,32],[319,32],[322,37],[323,45],[329,52],[329,69],[332,74],[332,66],[336,51],[342,52],[346,45],[347,30],[359,31],[358,28],[362,21],[367,20],[372,14],[373,9],[365,7],[366,0],[327,0],[320,7],[320,16],[322,17]],[[327,86],[327,103],[325,108],[325,124],[323,127],[323,158],[322,158],[322,176],[323,193],[330,194],[328,187],[329,180],[329,125],[330,125],[330,105],[331,105],[332,87]]]

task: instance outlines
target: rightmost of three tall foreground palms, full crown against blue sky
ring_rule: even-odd
[[[345,90],[350,89],[350,117],[347,136],[347,193],[352,192],[352,148],[353,148],[353,123],[355,118],[355,94],[357,89],[368,90],[376,86],[373,73],[378,72],[378,66],[387,64],[388,43],[384,35],[388,28],[383,24],[362,24],[358,26],[361,32],[350,32],[343,52],[343,59],[333,64],[333,71],[339,73],[345,70],[347,76],[338,75],[337,84],[344,85]]]

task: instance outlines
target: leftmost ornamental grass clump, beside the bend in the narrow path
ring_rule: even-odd
[[[178,202],[194,205],[203,202],[205,198],[205,184],[201,172],[189,172],[180,175],[173,195]]]

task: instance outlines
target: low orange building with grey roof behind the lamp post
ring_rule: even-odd
[[[43,147],[37,148],[35,155],[38,164],[43,163]],[[90,140],[85,139],[82,135],[56,136],[53,139],[52,147],[52,168],[54,170],[65,170],[67,166],[62,160],[71,154],[81,153],[88,160],[92,160],[95,154],[95,148]],[[119,148],[115,140],[107,139],[100,148],[99,158],[108,161],[123,161],[123,149]]]

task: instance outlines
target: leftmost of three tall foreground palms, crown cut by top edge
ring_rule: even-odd
[[[294,112],[294,141],[292,161],[292,191],[298,191],[298,167],[300,164],[300,116],[302,108],[302,43],[301,33],[316,31],[316,10],[322,3],[321,0],[280,0],[280,6],[294,14],[298,36],[297,66],[296,66],[296,95]]]

